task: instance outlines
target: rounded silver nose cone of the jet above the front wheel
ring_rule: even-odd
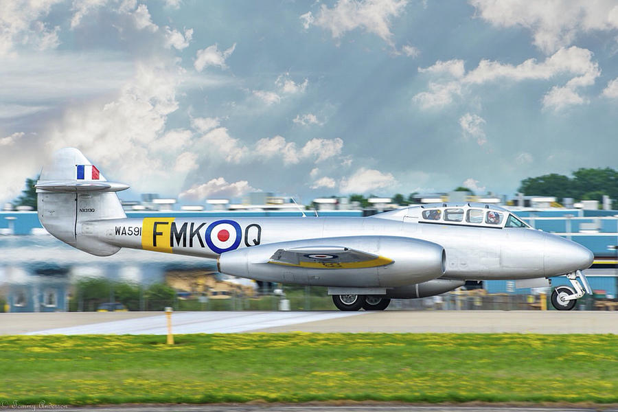
[[[571,273],[589,268],[593,264],[594,255],[588,248],[560,236],[547,233],[544,249],[546,276]]]

